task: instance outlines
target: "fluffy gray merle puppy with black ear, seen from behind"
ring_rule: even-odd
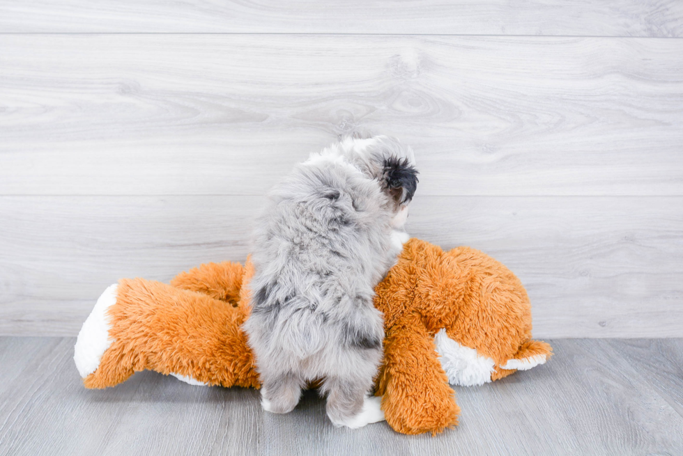
[[[287,413],[319,380],[337,426],[383,419],[369,398],[382,356],[374,287],[396,262],[417,187],[410,148],[348,138],[311,155],[268,194],[256,223],[244,325],[263,409]]]

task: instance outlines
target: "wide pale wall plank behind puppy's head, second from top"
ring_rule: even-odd
[[[261,195],[357,130],[420,194],[683,195],[683,40],[0,36],[0,194]]]

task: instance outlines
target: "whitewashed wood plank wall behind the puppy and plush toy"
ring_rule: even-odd
[[[451,3],[0,0],[0,334],[243,260],[273,180],[362,130],[536,336],[683,336],[683,2]]]

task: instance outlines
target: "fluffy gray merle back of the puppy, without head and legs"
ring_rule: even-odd
[[[391,265],[390,219],[377,182],[342,159],[300,164],[270,192],[245,325],[259,364],[305,359],[327,345],[381,347],[372,297]]]

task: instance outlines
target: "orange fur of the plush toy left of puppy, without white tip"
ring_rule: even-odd
[[[241,288],[244,275],[242,265],[212,263],[180,274],[172,281],[175,287],[141,278],[119,281],[116,304],[109,308],[114,343],[84,379],[85,386],[114,386],[134,372],[155,370],[210,385],[259,388],[241,329],[250,309],[235,301],[240,294],[248,299]],[[232,300],[214,299],[195,288],[217,290]]]

